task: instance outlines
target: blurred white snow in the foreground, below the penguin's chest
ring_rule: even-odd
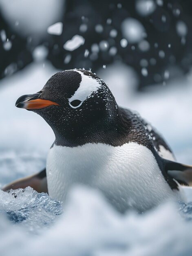
[[[49,219],[50,215],[57,218],[56,214],[61,213],[59,203],[53,201],[55,209],[51,209],[50,214],[49,207],[44,209],[42,204],[44,198],[37,203],[39,199],[35,198],[34,192],[27,193],[28,200],[33,201],[29,205],[36,204],[36,209],[40,205],[43,213],[47,213],[46,216],[42,213],[44,218]],[[7,194],[7,197],[11,195]],[[12,196],[11,203],[14,200],[17,198]],[[191,206],[188,207],[188,211],[191,209]],[[9,220],[0,216],[0,255],[11,256],[14,252],[20,256],[188,256],[192,250],[192,222],[184,220],[185,210],[183,204],[165,204],[141,215],[128,212],[122,216],[108,205],[98,191],[76,187],[68,196],[64,213],[49,229],[43,228],[38,236],[27,225],[30,213],[37,214],[35,209],[16,225],[11,225]],[[17,215],[18,211],[15,212]],[[10,216],[10,213],[7,215]],[[44,227],[41,217],[34,214],[33,229],[38,225]]]

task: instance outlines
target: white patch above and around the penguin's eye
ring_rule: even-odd
[[[74,70],[74,71],[79,72],[79,74],[81,74],[82,81],[81,81],[77,91],[73,94],[73,96],[70,99],[68,99],[68,101],[69,101],[69,105],[72,108],[78,108],[79,106],[82,105],[82,103],[88,97],[90,97],[90,95],[93,92],[96,92],[98,90],[98,88],[101,87],[101,85],[93,77],[84,75],[83,72],[80,72],[79,70]],[[75,101],[75,102],[73,102],[73,101]],[[77,101],[79,101],[79,105],[73,106],[73,105],[77,105]],[[73,103],[75,103],[75,104],[73,104]]]

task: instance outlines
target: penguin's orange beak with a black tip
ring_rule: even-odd
[[[28,110],[46,108],[51,105],[60,106],[58,103],[49,101],[46,99],[39,98],[41,92],[35,94],[26,94],[19,97],[16,101],[15,106],[17,108],[25,108]]]

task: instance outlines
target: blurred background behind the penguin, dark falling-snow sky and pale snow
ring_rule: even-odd
[[[0,0],[0,184],[39,171],[54,137],[14,107],[60,70],[100,76],[192,164],[192,2]]]

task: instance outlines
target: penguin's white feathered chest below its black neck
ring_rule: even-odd
[[[166,198],[181,199],[165,181],[152,152],[134,142],[118,147],[54,145],[46,173],[49,195],[63,203],[74,184],[101,190],[120,211],[128,207],[144,211]]]

